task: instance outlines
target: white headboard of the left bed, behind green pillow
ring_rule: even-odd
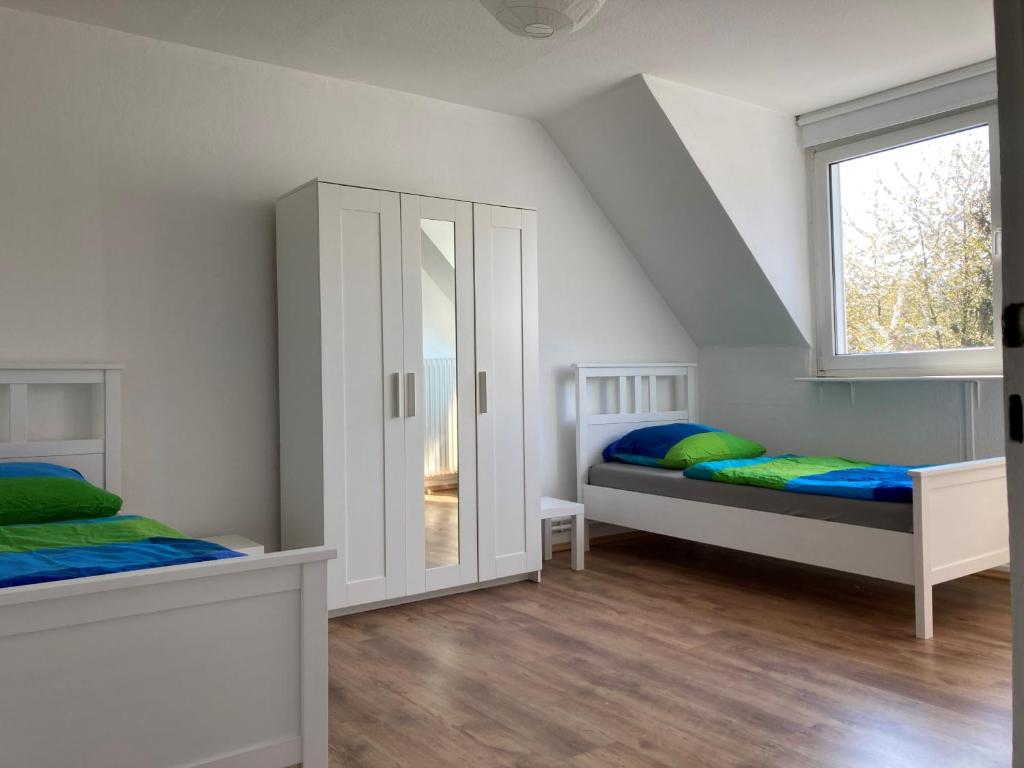
[[[120,494],[123,369],[0,364],[0,462],[61,464]]]

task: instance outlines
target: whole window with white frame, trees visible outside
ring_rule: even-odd
[[[814,156],[818,368],[1000,368],[994,108]]]

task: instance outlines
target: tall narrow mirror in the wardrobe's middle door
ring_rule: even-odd
[[[454,221],[420,219],[426,567],[459,563],[459,407]]]

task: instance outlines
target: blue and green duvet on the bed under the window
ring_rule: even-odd
[[[786,454],[703,462],[683,474],[697,480],[758,485],[797,494],[906,503],[913,495],[910,469],[915,467],[871,464],[834,456]]]

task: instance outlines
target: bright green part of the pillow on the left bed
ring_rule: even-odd
[[[70,477],[0,477],[0,525],[110,517],[121,497]]]

